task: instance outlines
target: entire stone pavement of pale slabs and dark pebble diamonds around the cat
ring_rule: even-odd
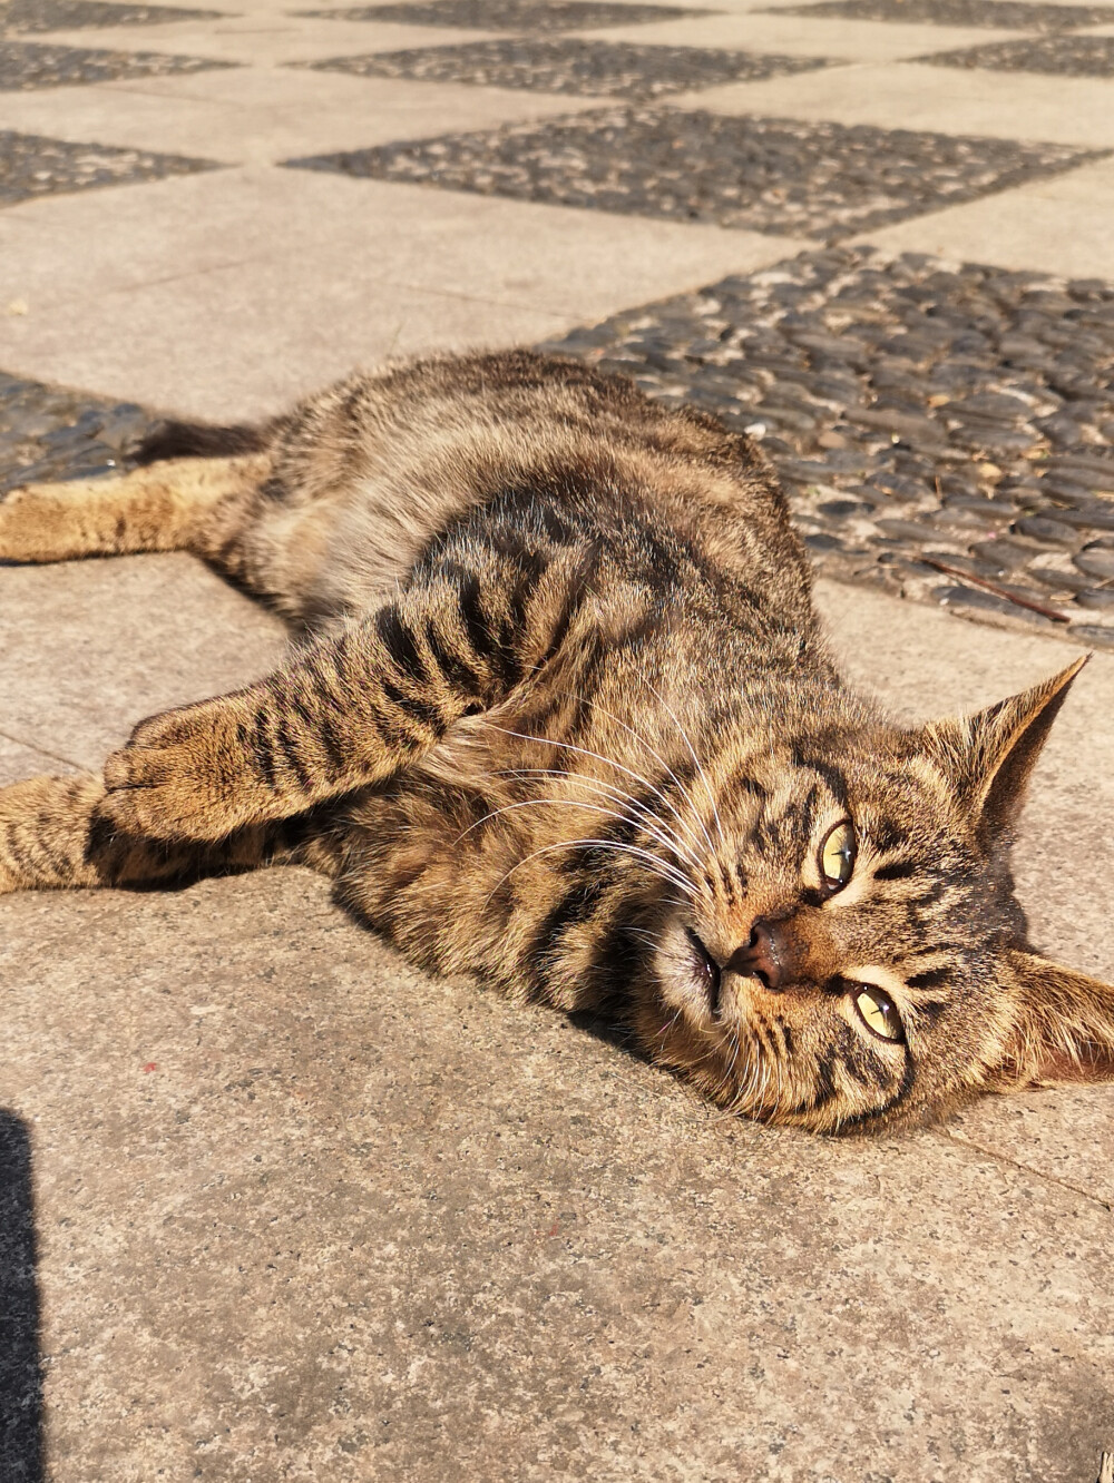
[[[899,713],[1096,651],[1018,863],[1037,942],[1114,979],[1114,4],[236,12],[0,4],[0,488],[433,347],[691,399],[780,466]],[[283,645],[178,556],[3,569],[0,632],[3,780]],[[0,1483],[1090,1483],[1114,1447],[1114,1089],[730,1123],[300,871],[0,922]]]

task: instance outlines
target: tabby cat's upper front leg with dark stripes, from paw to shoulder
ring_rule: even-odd
[[[214,841],[389,777],[573,642],[587,590],[574,556],[446,564],[260,684],[144,721],[105,764],[102,811]]]

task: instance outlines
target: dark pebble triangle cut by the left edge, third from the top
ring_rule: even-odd
[[[218,168],[212,160],[191,160],[179,154],[117,150],[107,144],[68,144],[62,139],[45,139],[36,133],[0,129],[0,205],[3,206],[30,200],[33,196],[56,196],[64,191],[92,190],[96,185],[125,185]]]

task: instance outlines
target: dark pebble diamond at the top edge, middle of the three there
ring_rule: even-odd
[[[369,4],[352,10],[295,10],[294,15],[335,21],[395,21],[469,31],[586,31],[599,25],[688,21],[715,10],[681,10],[665,4],[607,4],[605,0],[418,0],[415,4]]]

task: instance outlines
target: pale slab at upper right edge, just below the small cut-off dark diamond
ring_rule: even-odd
[[[673,105],[711,113],[868,123],[881,129],[1114,147],[1114,83],[1092,77],[1072,79],[1071,108],[1064,107],[1062,79],[979,73],[978,86],[973,86],[967,73],[917,62],[829,67],[810,74],[807,89],[782,77],[731,83],[685,93],[675,98]]]

